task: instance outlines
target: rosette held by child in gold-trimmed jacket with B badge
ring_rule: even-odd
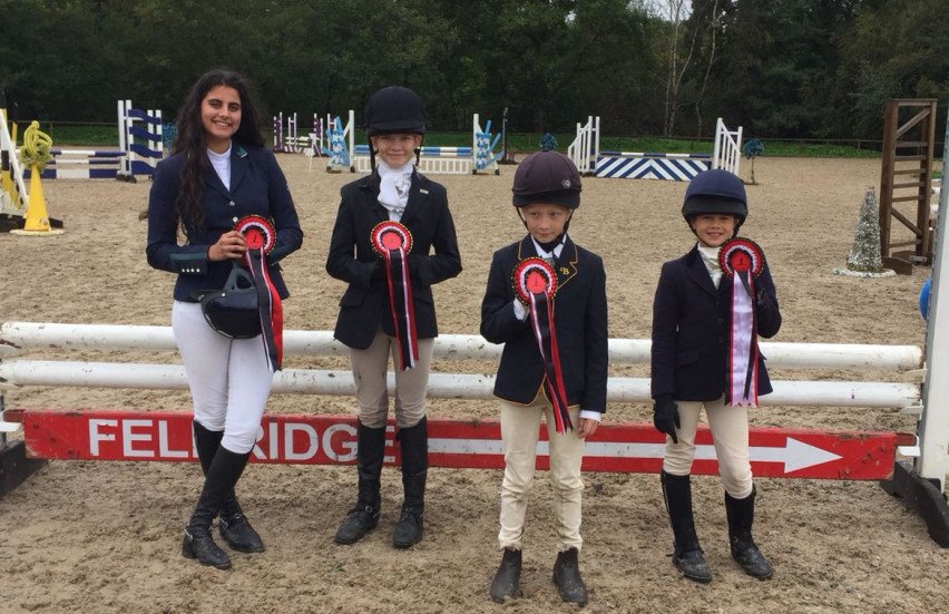
[[[564,370],[560,367],[560,351],[557,347],[557,332],[554,324],[554,296],[557,294],[557,272],[539,257],[522,260],[515,266],[511,276],[515,294],[527,305],[530,314],[530,328],[544,361],[547,377],[545,391],[554,407],[554,422],[558,435],[573,430],[570,412],[567,410],[567,389],[564,386]]]

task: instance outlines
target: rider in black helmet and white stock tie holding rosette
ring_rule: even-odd
[[[425,390],[438,337],[431,286],[458,275],[461,259],[444,187],[414,167],[422,99],[404,87],[380,89],[366,104],[365,131],[373,170],[343,186],[326,259],[330,275],[349,284],[333,334],[350,348],[359,406],[356,504],[335,540],[354,544],[379,524],[391,354],[404,488],[392,544],[408,548],[423,534]]]

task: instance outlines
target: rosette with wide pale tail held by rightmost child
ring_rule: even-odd
[[[764,253],[750,238],[735,237],[718,248],[722,273],[732,277],[728,331],[728,390],[732,407],[757,407],[757,320],[754,280],[764,269]]]

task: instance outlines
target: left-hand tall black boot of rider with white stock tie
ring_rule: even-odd
[[[379,524],[382,460],[385,458],[385,427],[372,429],[362,422],[356,428],[356,469],[359,497],[336,530],[337,544],[355,544]]]

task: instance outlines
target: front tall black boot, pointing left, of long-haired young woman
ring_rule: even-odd
[[[250,452],[236,454],[224,447],[217,449],[208,466],[197,507],[185,527],[182,554],[186,558],[197,558],[202,565],[213,565],[218,569],[231,568],[231,558],[211,536],[211,523],[221,510],[227,494],[241,479],[250,456]]]

